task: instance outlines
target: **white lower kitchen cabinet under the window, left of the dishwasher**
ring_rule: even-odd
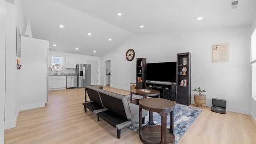
[[[49,90],[53,89],[66,89],[67,87],[66,76],[49,76]]]

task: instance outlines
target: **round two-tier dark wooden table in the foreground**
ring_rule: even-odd
[[[139,136],[144,144],[174,144],[173,111],[175,103],[160,98],[141,99],[139,101]],[[142,108],[149,110],[148,124],[142,127]],[[161,115],[161,126],[153,122],[153,111]],[[167,115],[170,112],[170,128],[166,128]]]

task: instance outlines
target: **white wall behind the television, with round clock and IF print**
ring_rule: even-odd
[[[167,62],[176,61],[176,53],[190,52],[191,89],[206,89],[208,106],[212,106],[212,98],[226,99],[227,110],[249,114],[250,30],[248,26],[140,34],[104,55],[101,63],[111,60],[111,87],[129,90],[129,83],[136,80],[136,58],[145,57],[147,63]],[[230,62],[212,63],[212,45],[226,42],[230,42]],[[133,61],[125,59],[130,48],[135,51]],[[191,91],[192,103],[194,93]]]

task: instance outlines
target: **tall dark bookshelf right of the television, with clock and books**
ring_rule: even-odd
[[[176,103],[190,105],[191,101],[191,53],[177,53]]]

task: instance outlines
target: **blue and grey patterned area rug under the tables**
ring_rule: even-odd
[[[141,96],[132,95],[132,99],[137,99]],[[127,95],[127,99],[130,101],[130,95]],[[186,133],[188,128],[196,120],[198,115],[202,112],[202,109],[189,107],[186,105],[176,104],[174,109],[174,134],[175,134],[175,144],[177,144]],[[153,122],[157,125],[161,125],[161,116],[157,112],[153,112]],[[148,115],[145,117],[145,124],[148,123]],[[126,126],[126,128],[138,133],[139,122],[135,122]],[[167,128],[170,128],[170,114],[167,116]]]

